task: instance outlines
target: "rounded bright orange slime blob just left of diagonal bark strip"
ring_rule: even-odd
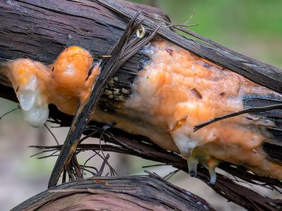
[[[79,46],[68,47],[51,65],[50,102],[61,111],[74,114],[78,102],[90,95],[94,80],[99,74],[99,65],[92,68],[93,58]]]

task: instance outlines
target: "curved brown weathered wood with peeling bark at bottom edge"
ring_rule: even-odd
[[[214,210],[206,200],[155,174],[97,177],[39,193],[13,210]]]

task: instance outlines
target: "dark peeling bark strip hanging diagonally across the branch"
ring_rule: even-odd
[[[54,169],[51,173],[48,185],[49,188],[56,186],[61,172],[63,172],[73,157],[73,153],[75,153],[80,141],[80,136],[90,121],[90,115],[96,108],[99,97],[106,88],[106,84],[108,84],[109,80],[111,77],[113,77],[116,71],[121,68],[121,65],[123,65],[123,63],[125,63],[125,61],[131,56],[137,53],[142,46],[145,46],[154,37],[159,29],[157,28],[154,32],[152,32],[152,34],[146,34],[141,39],[139,37],[133,38],[132,36],[135,33],[135,30],[137,30],[137,27],[139,27],[142,23],[142,20],[140,20],[139,23],[135,24],[135,20],[138,15],[140,15],[140,13],[136,13],[136,15],[130,20],[128,27],[126,27],[125,31],[123,32],[123,36],[118,41],[114,49],[108,53],[111,58],[102,63],[102,72],[99,75],[97,82],[94,84],[90,98],[78,107],[71,124],[71,128],[68,132],[68,136],[66,137],[66,141],[63,144],[59,158],[57,159]]]

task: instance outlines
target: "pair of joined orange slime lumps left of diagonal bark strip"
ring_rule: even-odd
[[[88,51],[71,46],[52,65],[20,58],[7,63],[2,71],[13,84],[24,120],[41,127],[49,116],[49,103],[73,115],[78,103],[88,98],[99,74],[99,65],[92,68],[92,63]]]

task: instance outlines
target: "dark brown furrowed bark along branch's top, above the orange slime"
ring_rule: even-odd
[[[103,4],[103,5],[101,5]],[[110,9],[106,9],[107,8]],[[116,11],[114,13],[113,11]],[[106,55],[126,27],[126,20],[142,11],[145,16],[168,20],[165,13],[149,6],[119,1],[55,1],[35,0],[0,2],[0,62],[28,57],[51,63],[66,46],[79,45],[93,55]],[[140,15],[139,20],[144,18]],[[158,24],[146,19],[144,24],[156,29]],[[282,92],[281,70],[252,58],[240,55],[204,37],[188,33],[206,41],[186,39],[161,28],[159,35],[214,63],[238,72],[264,87]],[[142,56],[135,55],[118,72],[124,79],[134,79]],[[122,74],[126,70],[126,74]],[[128,73],[131,72],[131,77]]]

